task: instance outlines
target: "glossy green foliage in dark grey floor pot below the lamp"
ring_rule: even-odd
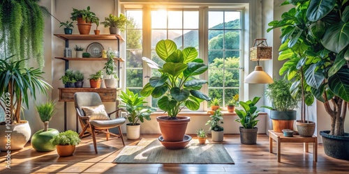
[[[260,97],[254,97],[253,100],[247,100],[246,102],[240,101],[239,104],[242,106],[242,109],[235,109],[237,113],[237,118],[235,121],[240,122],[242,127],[245,129],[253,129],[257,125],[259,120],[256,120],[258,117],[257,106],[255,104],[260,100]]]

